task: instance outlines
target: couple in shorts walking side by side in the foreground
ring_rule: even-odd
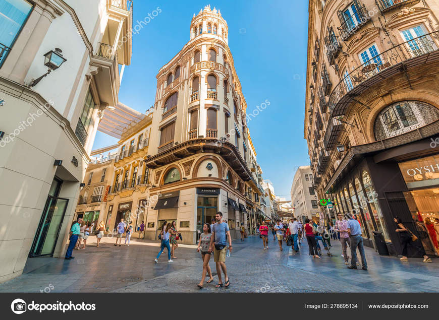
[[[207,283],[213,281],[212,271],[210,270],[209,261],[210,253],[213,252],[213,261],[216,264],[216,274],[218,275],[218,283],[215,288],[223,287],[223,279],[221,271],[224,273],[224,286],[230,286],[229,276],[226,269],[226,251],[232,251],[232,237],[230,236],[229,225],[223,221],[223,213],[217,212],[215,215],[216,223],[211,226],[206,222],[203,225],[203,233],[200,235],[198,241],[197,252],[201,252],[201,259],[203,260],[203,273],[201,281],[197,284],[199,289],[203,288],[206,272],[209,275]],[[212,233],[210,233],[212,230]],[[227,246],[229,242],[229,246]]]

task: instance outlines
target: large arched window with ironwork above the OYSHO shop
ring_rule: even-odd
[[[373,131],[376,140],[384,140],[416,130],[439,119],[439,110],[421,101],[396,102],[379,112]]]

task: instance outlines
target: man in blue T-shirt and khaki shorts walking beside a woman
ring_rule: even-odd
[[[212,236],[210,237],[210,249],[213,251],[213,261],[216,264],[216,274],[218,275],[218,284],[215,288],[221,288],[223,286],[223,280],[221,278],[221,270],[224,273],[224,280],[226,281],[224,286],[228,288],[230,286],[229,277],[227,276],[226,269],[226,251],[227,240],[229,240],[229,250],[232,251],[232,237],[230,236],[229,225],[223,222],[223,213],[217,212],[216,223],[213,224]]]

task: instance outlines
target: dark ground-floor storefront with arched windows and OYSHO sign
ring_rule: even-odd
[[[433,233],[439,218],[439,148],[431,148],[429,142],[424,139],[370,153],[352,147],[346,155],[349,161],[336,172],[325,196],[334,200],[335,212],[354,212],[365,245],[374,246],[375,231],[382,234],[390,254],[400,255],[393,221],[399,217],[418,236],[416,244],[437,255]],[[419,250],[409,246],[409,257],[419,256]]]

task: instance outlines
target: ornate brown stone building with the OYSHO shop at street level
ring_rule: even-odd
[[[394,217],[437,254],[439,3],[309,2],[304,136],[326,219],[354,211],[365,245],[401,252]],[[418,255],[418,252],[411,252]]]

